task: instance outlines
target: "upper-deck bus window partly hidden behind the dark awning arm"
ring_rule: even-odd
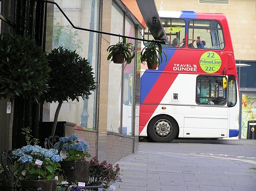
[[[163,47],[184,47],[185,46],[185,21],[179,18],[161,18],[165,34],[168,36],[169,43]],[[147,40],[154,40],[150,35],[148,28],[144,31],[144,37]],[[148,44],[149,42],[145,42]]]

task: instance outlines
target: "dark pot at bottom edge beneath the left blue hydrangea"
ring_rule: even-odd
[[[41,191],[56,191],[57,190],[57,180],[22,180],[21,187],[35,187],[41,188]]]

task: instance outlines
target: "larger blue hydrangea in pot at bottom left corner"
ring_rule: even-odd
[[[44,149],[34,139],[31,145],[30,128],[22,128],[27,145],[12,151],[13,172],[20,179],[22,187],[40,187],[41,190],[56,190],[56,173],[60,170],[62,158],[56,149]]]

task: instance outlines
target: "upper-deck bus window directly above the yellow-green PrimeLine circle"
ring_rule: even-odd
[[[224,37],[220,24],[216,21],[189,21],[188,47],[192,49],[224,49]]]

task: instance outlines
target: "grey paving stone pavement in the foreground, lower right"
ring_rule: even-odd
[[[256,190],[256,163],[243,160],[139,151],[116,164],[122,179],[116,190]]]

